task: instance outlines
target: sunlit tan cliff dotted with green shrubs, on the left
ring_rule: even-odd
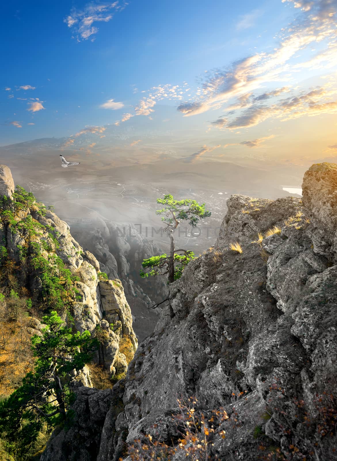
[[[33,301],[33,312],[58,308],[64,318],[71,314],[76,330],[99,334],[97,363],[113,376],[125,375],[137,338],[121,281],[104,279],[93,254],[83,251],[69,226],[52,210],[24,189],[14,191],[5,165],[0,165],[0,194],[4,284],[9,289],[24,288]],[[90,383],[88,371],[83,382]]]

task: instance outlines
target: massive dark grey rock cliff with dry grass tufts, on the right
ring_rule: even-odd
[[[336,459],[337,165],[313,165],[302,188],[302,201],[229,199],[127,377],[81,388],[41,460],[131,459],[136,439],[176,461]]]

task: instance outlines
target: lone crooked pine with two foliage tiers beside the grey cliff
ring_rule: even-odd
[[[205,210],[204,203],[200,205],[192,199],[174,200],[171,194],[165,195],[163,199],[157,199],[157,203],[164,205],[161,210],[156,211],[156,214],[164,215],[162,216],[162,221],[166,224],[166,227],[163,228],[163,231],[168,232],[170,252],[168,255],[161,254],[144,260],[140,276],[145,278],[149,277],[149,275],[168,274],[168,283],[171,284],[174,280],[180,278],[188,262],[194,259],[192,251],[175,249],[174,230],[177,229],[181,220],[186,220],[192,227],[196,227],[199,219],[208,218],[211,213]]]

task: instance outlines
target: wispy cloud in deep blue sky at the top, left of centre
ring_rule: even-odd
[[[121,6],[118,1],[115,1],[98,5],[89,4],[83,10],[74,8],[70,15],[64,18],[64,23],[74,30],[75,35],[72,38],[76,38],[77,41],[87,40],[99,31],[98,27],[93,25],[94,23],[109,22],[113,17],[112,13],[121,11],[126,5],[128,4],[124,3]]]

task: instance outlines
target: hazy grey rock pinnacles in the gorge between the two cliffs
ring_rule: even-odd
[[[77,239],[92,252],[88,257],[99,260],[99,269],[109,278],[121,280],[131,307],[134,331],[142,341],[152,333],[160,314],[160,308],[153,310],[149,307],[168,296],[168,287],[164,279],[153,278],[150,282],[141,278],[141,262],[163,252],[152,241],[143,238],[133,225],[122,226],[107,221],[103,233],[98,229],[89,233],[74,229]]]

